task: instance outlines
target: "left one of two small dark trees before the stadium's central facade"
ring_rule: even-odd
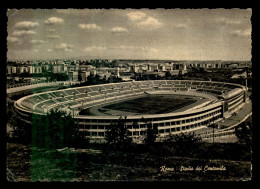
[[[117,123],[112,123],[106,131],[105,139],[107,144],[116,146],[126,146],[132,142],[132,138],[128,136],[126,125],[126,117],[120,117]]]

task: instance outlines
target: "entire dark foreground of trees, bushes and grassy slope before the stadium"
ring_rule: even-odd
[[[19,124],[18,119],[12,122],[13,117],[9,116],[10,124]],[[53,111],[47,117],[33,117],[31,131],[21,130],[7,136],[7,179],[87,182],[251,179],[251,143],[247,142],[250,132],[244,136],[239,129],[237,136],[244,137],[239,143],[204,143],[192,133],[171,135],[156,143],[158,128],[146,123],[144,143],[135,144],[127,135],[125,119],[120,118],[107,130],[106,143],[93,144],[84,140],[73,121],[70,115]],[[243,133],[250,129],[248,125],[241,125]]]

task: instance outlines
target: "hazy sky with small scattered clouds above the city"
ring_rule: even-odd
[[[9,9],[7,59],[251,60],[251,9]]]

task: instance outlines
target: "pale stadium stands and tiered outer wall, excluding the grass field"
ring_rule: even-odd
[[[132,81],[37,93],[17,100],[15,107],[20,118],[27,122],[32,120],[33,114],[45,115],[51,109],[71,112],[86,137],[102,142],[106,129],[120,116],[79,115],[79,112],[149,94],[185,94],[207,98],[208,101],[185,111],[127,116],[128,134],[136,140],[145,136],[147,122],[158,126],[158,140],[161,140],[169,134],[192,132],[222,121],[243,106],[247,90],[242,85],[213,81]],[[138,123],[137,128],[133,128],[133,122]]]

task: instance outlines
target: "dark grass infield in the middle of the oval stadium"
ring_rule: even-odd
[[[195,102],[197,102],[195,97],[185,95],[148,95],[138,99],[107,105],[100,110],[102,112],[116,110],[145,114],[161,114],[172,112]]]

